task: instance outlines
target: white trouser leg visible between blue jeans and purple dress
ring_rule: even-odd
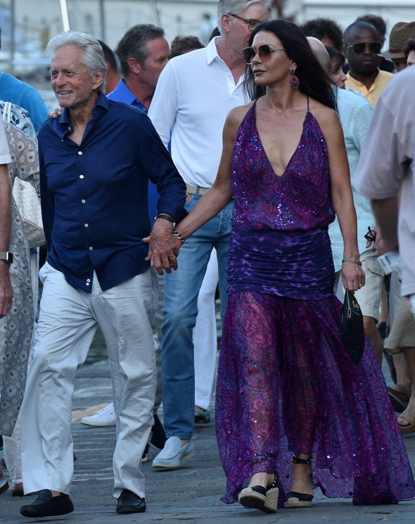
[[[195,405],[209,410],[215,382],[217,329],[215,293],[219,282],[216,249],[212,249],[208,268],[198,296],[198,316],[193,327],[195,358]]]

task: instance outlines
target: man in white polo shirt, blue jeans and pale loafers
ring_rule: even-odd
[[[245,103],[242,50],[255,27],[267,20],[270,4],[270,0],[219,0],[220,36],[204,49],[170,60],[160,74],[148,116],[166,147],[171,136],[172,158],[187,185],[189,212],[215,181],[226,114]],[[186,240],[179,269],[165,275],[162,403],[168,440],[153,467],[174,469],[194,454],[192,331],[198,292],[215,247],[223,317],[233,208],[230,202]]]

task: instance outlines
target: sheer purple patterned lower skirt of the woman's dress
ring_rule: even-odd
[[[293,453],[312,453],[314,487],[327,497],[354,504],[414,497],[381,367],[369,343],[358,365],[350,360],[338,333],[340,308],[333,295],[229,295],[216,396],[226,504],[266,471],[278,477],[283,506]]]

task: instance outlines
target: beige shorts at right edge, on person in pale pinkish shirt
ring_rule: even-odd
[[[401,296],[401,283],[395,271],[390,277],[389,293],[390,333],[383,346],[390,353],[401,353],[402,348],[415,347],[415,320],[408,299]]]

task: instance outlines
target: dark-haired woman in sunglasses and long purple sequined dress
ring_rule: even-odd
[[[229,113],[215,184],[177,225],[184,241],[235,199],[217,375],[222,500],[274,512],[311,506],[320,487],[396,504],[414,480],[381,368],[369,343],[355,365],[338,332],[335,213],[344,287],[362,287],[364,273],[334,91],[291,22],[263,23],[250,44],[254,102]]]

